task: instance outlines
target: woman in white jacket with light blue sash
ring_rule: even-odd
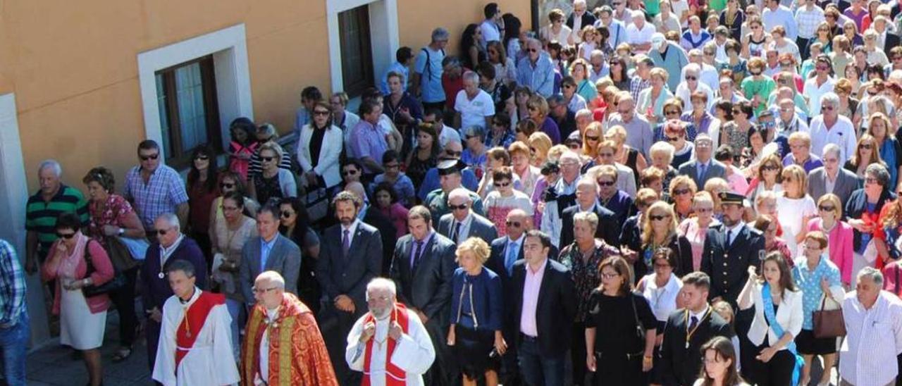
[[[744,370],[757,378],[750,381],[759,386],[792,384],[795,339],[805,320],[802,293],[796,291],[789,266],[780,253],[770,253],[761,263],[761,271],[763,280],[756,267],[749,267],[749,280],[737,299],[740,309],[755,308],[748,338],[756,345],[753,350],[757,354]]]

